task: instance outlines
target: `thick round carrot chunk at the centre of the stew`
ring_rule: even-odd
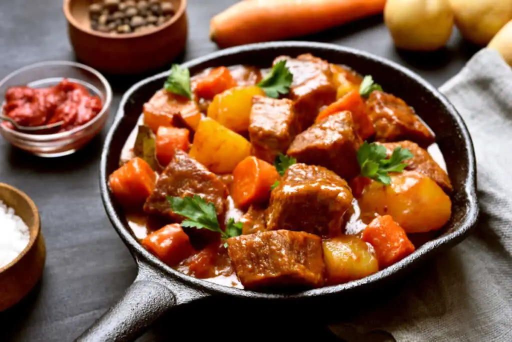
[[[233,170],[231,197],[239,208],[270,198],[270,187],[280,179],[275,166],[253,156],[246,157]]]

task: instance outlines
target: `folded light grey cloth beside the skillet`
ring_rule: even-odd
[[[484,49],[440,91],[473,138],[478,226],[402,292],[330,327],[349,342],[512,341],[512,70]]]

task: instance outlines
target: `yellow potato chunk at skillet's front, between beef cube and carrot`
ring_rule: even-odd
[[[328,284],[361,279],[379,270],[373,251],[356,236],[323,240],[322,247]]]

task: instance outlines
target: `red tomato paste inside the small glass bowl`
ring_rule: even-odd
[[[63,79],[54,87],[11,87],[5,94],[4,115],[22,126],[40,126],[63,121],[66,132],[91,121],[101,111],[101,99],[81,84]],[[11,123],[2,124],[11,129]]]

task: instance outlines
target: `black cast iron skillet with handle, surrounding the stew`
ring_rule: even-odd
[[[139,272],[119,302],[84,332],[79,340],[135,339],[170,308],[210,296],[235,300],[244,306],[271,305],[272,309],[280,310],[306,306],[308,310],[322,307],[326,311],[329,305],[339,303],[344,298],[360,295],[376,287],[380,289],[422,260],[464,239],[478,216],[476,167],[471,137],[454,106],[418,75],[366,52],[314,42],[270,42],[236,47],[186,62],[184,66],[190,69],[191,74],[221,65],[268,67],[276,56],[296,56],[308,52],[333,63],[348,65],[361,74],[373,75],[387,92],[396,94],[413,106],[434,131],[454,186],[452,218],[441,236],[424,244],[409,257],[364,279],[300,293],[262,293],[225,287],[187,276],[166,266],[137,242],[126,224],[122,208],[112,197],[107,185],[108,176],[119,166],[122,146],[136,125],[143,103],[162,87],[168,75],[164,72],[140,81],[124,94],[101,156],[100,187],[103,204],[119,236],[130,249]]]

